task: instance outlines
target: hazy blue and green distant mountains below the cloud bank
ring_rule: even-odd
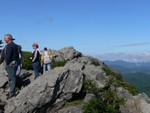
[[[150,62],[104,61],[109,67],[122,73],[125,81],[136,86],[139,92],[150,97]]]

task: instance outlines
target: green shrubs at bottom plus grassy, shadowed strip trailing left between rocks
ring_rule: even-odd
[[[112,90],[111,86],[112,83],[108,82],[105,88],[98,88],[96,82],[84,80],[81,92],[74,95],[64,107],[81,105],[84,113],[116,113],[125,100],[119,98],[116,90]],[[94,97],[83,102],[86,94],[93,94]]]

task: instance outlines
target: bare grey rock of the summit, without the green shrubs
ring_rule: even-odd
[[[65,106],[79,95],[84,80],[95,81],[99,88],[104,88],[110,78],[104,71],[101,61],[83,56],[73,47],[53,52],[55,62],[66,61],[63,67],[56,67],[34,80],[33,71],[22,71],[23,85],[15,98],[6,100],[8,87],[7,76],[0,67],[0,107],[4,113],[83,113],[82,105]],[[118,95],[126,99],[120,106],[120,113],[150,113],[150,99],[145,94],[132,96],[128,90],[118,87]],[[93,98],[85,94],[84,101]]]

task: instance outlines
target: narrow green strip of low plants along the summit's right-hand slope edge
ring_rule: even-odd
[[[127,89],[132,95],[138,94],[138,90],[134,86],[123,81],[123,78],[120,73],[115,72],[114,70],[110,69],[107,66],[103,67],[103,70],[106,72],[107,75],[115,77],[114,83],[116,83],[116,85],[118,87],[123,87],[123,88]]]

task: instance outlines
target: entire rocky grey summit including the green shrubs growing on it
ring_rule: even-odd
[[[23,70],[23,87],[6,100],[7,76],[0,67],[1,113],[149,113],[150,99],[103,62],[73,47],[50,50],[52,70],[33,80]]]

